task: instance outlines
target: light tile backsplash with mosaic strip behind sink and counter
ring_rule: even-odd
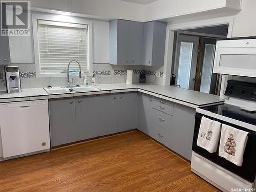
[[[20,70],[22,88],[41,88],[47,86],[65,86],[67,77],[45,77],[37,78],[35,73],[35,64],[18,64]],[[111,70],[114,75],[111,76]],[[124,83],[126,82],[126,70],[133,70],[133,82],[139,82],[141,70],[145,70],[147,83],[161,84],[163,78],[163,67],[150,66],[114,66],[110,64],[93,64],[93,74],[95,75],[96,84],[106,83]],[[5,80],[3,72],[4,67],[0,66],[0,89],[5,89]],[[160,77],[156,77],[156,71],[160,71]],[[78,78],[78,74],[73,77],[75,84],[83,84],[83,78]]]

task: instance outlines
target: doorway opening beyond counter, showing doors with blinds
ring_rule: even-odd
[[[172,73],[176,86],[204,93],[220,93],[221,76],[212,73],[216,41],[226,38],[228,25],[175,31]],[[173,83],[172,83],[173,84]]]

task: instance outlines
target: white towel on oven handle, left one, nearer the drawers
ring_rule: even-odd
[[[220,139],[221,123],[202,117],[197,138],[197,145],[210,153],[217,151]]]

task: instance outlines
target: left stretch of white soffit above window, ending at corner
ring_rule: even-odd
[[[72,2],[72,5],[68,5]],[[144,6],[120,0],[31,0],[32,7],[106,18],[144,20]]]

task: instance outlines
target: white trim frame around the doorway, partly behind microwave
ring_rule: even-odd
[[[174,33],[179,30],[195,29],[202,27],[212,27],[219,25],[228,25],[227,37],[232,37],[234,17],[219,17],[214,19],[196,20],[192,22],[183,23],[169,23],[166,29],[166,40],[165,40],[165,56],[164,56],[164,67],[163,67],[163,86],[169,86],[170,75],[172,70],[173,60],[173,49],[174,49]],[[227,75],[222,75],[220,98],[224,96],[224,90],[227,84]]]

